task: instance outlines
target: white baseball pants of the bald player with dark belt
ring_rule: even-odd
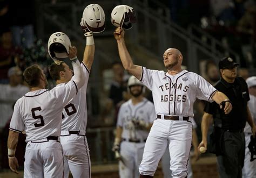
[[[180,120],[154,120],[147,137],[139,173],[153,176],[167,144],[171,157],[172,177],[187,176],[187,161],[192,141],[192,124]]]

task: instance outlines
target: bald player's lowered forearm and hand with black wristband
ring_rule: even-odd
[[[224,112],[227,115],[228,113],[231,112],[232,110],[232,104],[230,99],[228,99],[228,97],[220,91],[216,91],[213,96],[212,96],[213,101],[215,101],[216,103],[218,103],[220,105],[220,109],[222,109],[224,107]]]

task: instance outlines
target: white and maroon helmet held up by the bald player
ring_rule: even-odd
[[[116,27],[131,29],[132,24],[136,23],[135,12],[128,5],[118,5],[111,12],[111,23]]]

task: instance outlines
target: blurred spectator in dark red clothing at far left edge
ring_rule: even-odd
[[[12,35],[10,31],[5,31],[1,35],[0,44],[0,81],[1,83],[8,82],[8,69],[15,66],[15,61],[19,58],[21,50],[12,45]]]

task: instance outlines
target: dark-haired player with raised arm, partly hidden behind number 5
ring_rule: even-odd
[[[69,170],[73,177],[91,177],[90,151],[85,136],[87,125],[86,89],[94,59],[95,44],[93,34],[86,30],[85,25],[83,25],[83,29],[85,30],[86,46],[81,66],[85,84],[78,90],[77,95],[65,105],[62,112],[60,143],[64,153],[64,177],[69,177]],[[73,71],[64,62],[61,62],[60,65],[53,63],[49,67],[49,72],[52,79],[56,81],[57,88],[65,86],[73,78]]]

